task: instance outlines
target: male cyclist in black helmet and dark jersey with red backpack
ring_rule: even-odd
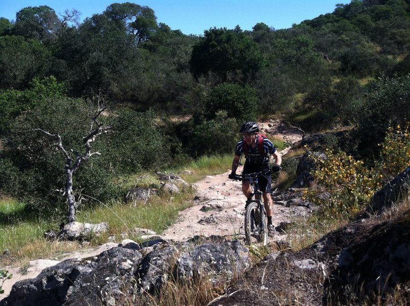
[[[239,133],[242,134],[243,139],[240,140],[235,147],[235,157],[232,162],[232,171],[229,174],[231,180],[235,179],[236,169],[239,166],[239,159],[241,154],[245,155],[245,165],[243,166],[242,174],[248,174],[252,172],[267,172],[269,171],[269,162],[271,159],[275,159],[275,164],[272,166],[272,172],[278,172],[282,158],[279,152],[276,150],[273,143],[267,138],[257,136],[259,132],[259,126],[256,122],[250,121],[242,125]],[[263,152],[259,149],[259,141],[263,141]],[[246,145],[244,145],[246,142]],[[244,152],[244,147],[247,152]],[[262,191],[262,196],[265,204],[265,209],[268,215],[268,230],[269,233],[273,233],[275,228],[272,225],[272,198],[271,198],[271,175],[261,175],[258,177],[259,187]],[[251,196],[251,182],[249,180],[242,181],[242,192],[247,197]]]

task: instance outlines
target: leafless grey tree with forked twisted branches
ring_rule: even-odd
[[[91,142],[95,141],[97,136],[109,133],[111,131],[110,126],[104,126],[103,123],[100,123],[97,121],[98,117],[101,115],[101,113],[103,113],[106,110],[106,108],[107,107],[104,107],[100,104],[100,99],[98,98],[98,110],[91,118],[89,134],[83,137],[83,145],[85,148],[83,154],[79,154],[74,149],[70,150],[71,153],[67,151],[66,148],[63,146],[63,142],[61,141],[61,136],[58,133],[51,134],[41,128],[33,129],[34,131],[42,132],[46,134],[47,136],[54,138],[57,141],[55,145],[57,146],[58,149],[60,149],[64,153],[66,157],[65,195],[67,197],[67,203],[68,203],[67,221],[69,223],[75,221],[75,212],[76,212],[77,205],[78,205],[75,199],[74,193],[73,193],[73,174],[78,169],[81,162],[88,160],[93,155],[100,155],[100,152],[91,152]],[[80,199],[78,199],[78,201],[80,201]]]

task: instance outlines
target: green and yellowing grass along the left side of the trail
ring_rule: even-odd
[[[203,157],[186,166],[167,169],[161,172],[178,173],[191,170],[192,174],[178,174],[183,180],[192,184],[206,175],[222,173],[231,168],[232,156]],[[140,173],[118,180],[119,188],[126,189],[135,186],[159,186],[155,173]],[[149,228],[162,233],[173,224],[180,210],[192,205],[194,191],[186,187],[178,194],[162,192],[152,196],[147,203],[124,204],[122,201],[99,203],[92,208],[83,208],[76,213],[78,222],[107,222],[109,231],[100,237],[90,237],[91,245],[106,243],[108,236],[113,236],[120,242],[127,233],[128,238],[140,241],[135,236],[133,228]],[[27,215],[25,204],[11,198],[0,198],[0,252],[9,251],[8,256],[0,258],[0,267],[13,263],[28,263],[38,258],[54,258],[65,252],[71,252],[79,247],[77,242],[50,242],[44,238],[44,233],[59,224],[53,220],[42,220],[36,216]]]

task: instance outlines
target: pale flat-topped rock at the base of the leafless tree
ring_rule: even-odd
[[[108,224],[105,222],[98,224],[71,222],[64,226],[64,228],[57,234],[57,238],[67,240],[87,240],[90,235],[99,235],[107,230]]]

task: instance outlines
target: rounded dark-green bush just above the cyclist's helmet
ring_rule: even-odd
[[[251,86],[222,83],[215,86],[206,100],[205,116],[213,119],[218,112],[226,111],[228,118],[235,118],[239,123],[243,123],[255,119],[257,107],[258,98]]]

